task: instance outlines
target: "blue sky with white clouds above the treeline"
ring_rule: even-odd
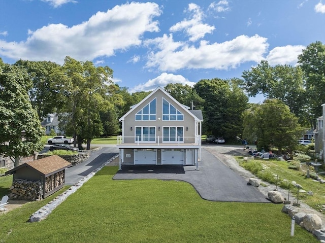
[[[0,0],[4,62],[90,60],[130,92],[240,78],[261,60],[296,65],[315,41],[325,1]]]

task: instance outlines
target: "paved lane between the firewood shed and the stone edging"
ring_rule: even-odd
[[[103,147],[99,145],[99,147]],[[107,160],[118,154],[116,146],[106,146],[98,151],[91,152],[87,161],[66,169],[66,185],[73,185],[87,176],[91,171],[100,167]]]

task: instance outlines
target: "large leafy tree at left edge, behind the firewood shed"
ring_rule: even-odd
[[[0,154],[15,167],[23,156],[43,149],[44,129],[27,91],[31,82],[24,69],[3,63],[0,58]]]

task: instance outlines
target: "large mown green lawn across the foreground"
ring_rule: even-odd
[[[116,171],[104,167],[42,222],[26,223],[34,210],[0,215],[0,238],[8,243],[318,242],[298,225],[290,236],[283,204],[212,202],[185,182],[115,181]]]

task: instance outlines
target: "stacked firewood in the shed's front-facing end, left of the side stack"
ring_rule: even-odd
[[[10,199],[37,201],[41,200],[41,189],[41,181],[17,179],[13,181],[8,196]]]

